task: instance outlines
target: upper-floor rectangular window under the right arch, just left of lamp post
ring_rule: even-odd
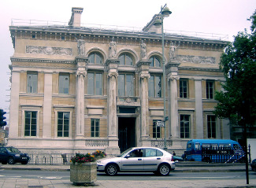
[[[149,94],[151,98],[161,98],[161,76],[150,76]]]

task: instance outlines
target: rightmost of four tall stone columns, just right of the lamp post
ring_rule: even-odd
[[[168,79],[168,88],[169,88],[169,125],[167,138],[172,136],[172,139],[180,138],[179,130],[179,113],[178,113],[178,88],[177,80],[178,76],[178,62],[169,62],[166,65],[166,74]],[[173,144],[175,144],[173,142]]]

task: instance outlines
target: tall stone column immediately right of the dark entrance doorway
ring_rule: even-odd
[[[149,141],[149,123],[148,123],[148,79],[149,74],[149,61],[139,61],[137,65],[139,68],[139,88],[140,88],[140,145],[150,146]]]

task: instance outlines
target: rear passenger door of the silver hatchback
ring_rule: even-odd
[[[158,149],[146,148],[144,157],[144,170],[156,171],[163,160],[163,153]]]

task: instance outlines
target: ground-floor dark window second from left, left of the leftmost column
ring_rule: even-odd
[[[58,112],[58,137],[69,137],[69,112]]]

